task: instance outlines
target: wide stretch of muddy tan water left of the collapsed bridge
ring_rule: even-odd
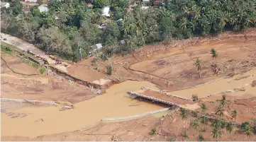
[[[147,102],[131,100],[127,91],[140,90],[141,86],[155,88],[146,81],[126,81],[112,85],[104,95],[99,95],[74,105],[74,110],[59,111],[61,107],[27,107],[9,110],[13,113],[26,113],[23,118],[11,118],[1,113],[1,136],[36,137],[76,131],[96,125],[101,119],[126,117],[134,114],[160,110],[163,107]],[[40,121],[44,119],[44,122]]]

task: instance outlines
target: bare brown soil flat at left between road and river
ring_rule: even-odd
[[[17,57],[1,53],[11,69],[18,73],[38,73]],[[24,76],[13,73],[1,61],[1,97],[26,100],[52,100],[55,102],[81,102],[95,97],[90,88],[75,83],[69,84],[60,76]]]

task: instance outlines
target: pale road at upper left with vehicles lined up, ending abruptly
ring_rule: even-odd
[[[6,38],[6,40],[4,40]],[[29,49],[31,52],[34,52],[35,54],[40,55],[40,57],[44,57],[45,59],[48,59],[50,61],[51,66],[55,66],[55,68],[60,69],[61,71],[65,71],[67,73],[67,67],[63,65],[55,65],[55,60],[50,59],[49,55],[45,54],[45,52],[41,49],[38,49],[35,47],[35,45],[32,45],[25,40],[21,40],[18,37],[13,37],[11,35],[5,34],[1,32],[1,42],[6,42],[9,45],[13,45],[18,47],[19,49]]]

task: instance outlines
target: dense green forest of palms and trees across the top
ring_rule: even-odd
[[[51,0],[48,12],[40,13],[33,6],[28,14],[23,13],[20,1],[10,3],[11,8],[1,12],[2,31],[73,61],[81,57],[80,48],[82,57],[88,57],[91,45],[96,43],[114,47],[125,40],[126,45],[118,50],[129,53],[163,40],[217,35],[256,25],[256,0],[165,0],[158,4],[161,8],[142,9],[138,4],[131,6],[131,11],[126,0],[94,0],[93,8],[84,1]],[[152,4],[150,1],[148,5]],[[111,6],[108,20],[101,15],[104,6]],[[106,27],[98,28],[100,23],[106,23]]]

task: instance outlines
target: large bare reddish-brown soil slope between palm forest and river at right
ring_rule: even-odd
[[[111,64],[113,77],[121,81],[150,81],[165,90],[179,90],[255,66],[255,36],[256,30],[250,29],[240,35],[227,32],[217,37],[194,37],[145,45],[141,49],[135,49],[133,54],[124,57],[115,55],[110,61],[98,61],[94,68],[102,69]],[[216,59],[211,57],[212,48],[218,54]],[[194,66],[196,58],[201,59],[203,65],[201,78]],[[222,66],[223,71],[215,73],[211,66],[213,63]]]

